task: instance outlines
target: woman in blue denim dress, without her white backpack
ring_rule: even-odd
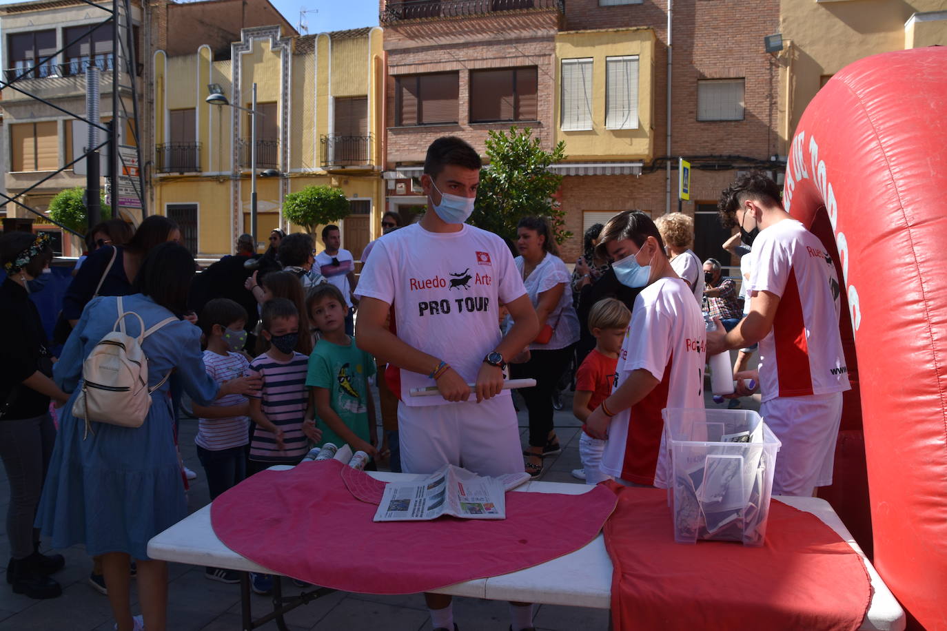
[[[77,543],[90,554],[101,554],[109,604],[117,628],[141,628],[132,617],[129,579],[130,557],[137,559],[138,597],[147,628],[164,629],[168,602],[168,569],[164,561],[149,559],[149,539],[188,515],[184,482],[172,434],[173,411],[165,380],[171,371],[182,377],[190,397],[207,405],[219,394],[250,391],[248,380],[233,379],[220,387],[205,372],[201,354],[201,329],[176,320],[154,330],[141,342],[148,357],[152,407],[140,428],[85,421],[72,414],[81,390],[82,362],[107,333],[116,328],[118,300],[125,312],[128,335],[158,324],[169,316],[181,318],[188,308],[188,289],[194,275],[194,258],[177,243],[161,243],[137,270],[136,293],[122,298],[98,296],[82,317],[63,348],[54,379],[72,392],[60,417],[60,435],[53,449],[49,475],[40,500],[37,523],[55,545]]]

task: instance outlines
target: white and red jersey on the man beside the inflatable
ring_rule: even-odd
[[[759,341],[762,400],[849,390],[838,275],[822,242],[799,221],[783,219],[759,232],[749,255],[749,289],[779,297],[773,330]]]

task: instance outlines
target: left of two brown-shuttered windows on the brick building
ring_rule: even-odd
[[[396,125],[457,122],[457,73],[405,75],[396,79]]]

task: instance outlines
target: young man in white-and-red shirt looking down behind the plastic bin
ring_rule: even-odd
[[[654,222],[634,210],[609,220],[599,252],[618,282],[644,287],[618,355],[616,387],[586,420],[608,438],[600,469],[618,482],[667,487],[665,408],[704,407],[706,325],[693,291],[670,265]]]

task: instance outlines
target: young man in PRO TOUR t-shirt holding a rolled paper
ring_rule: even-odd
[[[388,386],[401,399],[406,473],[433,473],[448,463],[490,476],[523,471],[503,368],[536,337],[539,324],[507,244],[464,223],[474,210],[480,167],[463,140],[434,141],[420,180],[428,211],[419,223],[378,239],[356,291],[356,343],[388,362]],[[514,323],[506,337],[498,326],[500,305]],[[411,396],[414,388],[432,386],[437,396]],[[453,630],[451,597],[424,596],[435,629]],[[511,606],[514,631],[532,626],[531,609]]]

